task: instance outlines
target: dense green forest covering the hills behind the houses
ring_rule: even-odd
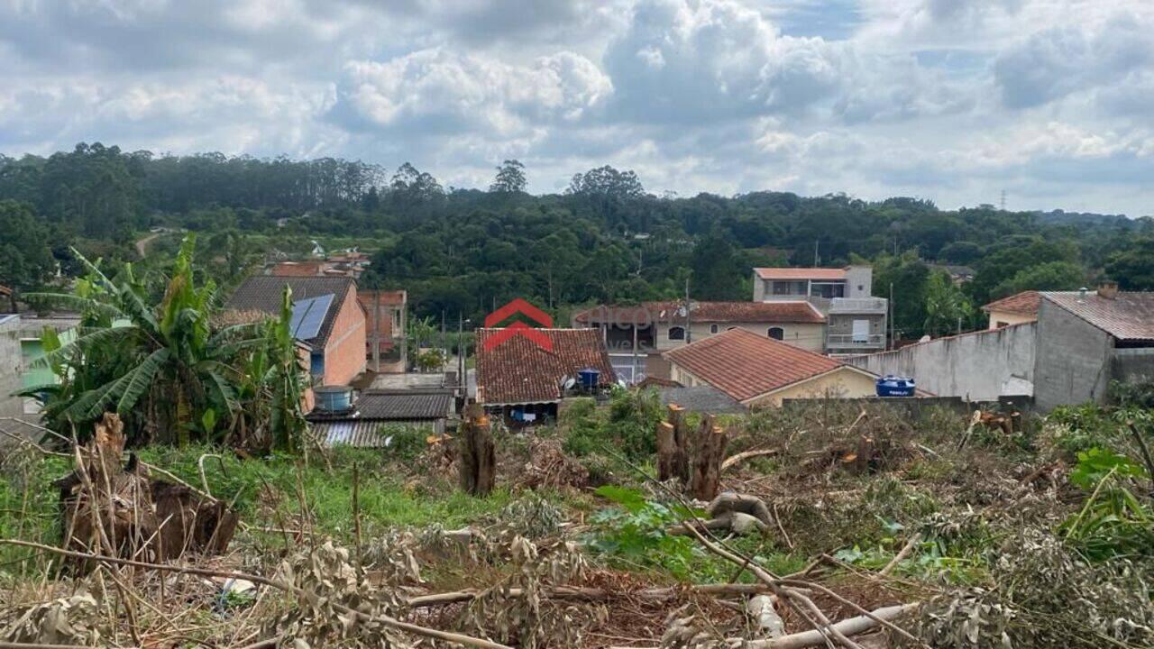
[[[343,159],[160,156],[77,144],[48,157],[0,156],[0,283],[29,291],[82,271],[72,253],[163,268],[179,237],[149,259],[150,227],[202,232],[201,266],[223,285],[316,240],[373,254],[368,286],[405,288],[418,315],[479,321],[525,297],[564,319],[576,305],[682,296],[749,299],[754,266],[868,261],[875,291],[893,285],[902,336],[977,322],[976,306],[1024,289],[1101,278],[1154,290],[1154,219],[941,210],[911,197],[878,202],[781,192],[690,197],[647,193],[631,171],[574,176],[561,194],[525,193],[505,161],[487,189],[430,173]],[[157,260],[152,258],[156,256]],[[976,270],[961,288],[942,264]],[[158,286],[163,282],[157,281]]]

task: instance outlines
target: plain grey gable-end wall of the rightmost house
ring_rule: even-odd
[[[1017,328],[1028,327],[1018,324]],[[1005,331],[1010,327],[999,329]],[[1042,412],[1057,405],[1103,402],[1110,382],[1114,338],[1042,298],[1037,311],[1034,403]]]

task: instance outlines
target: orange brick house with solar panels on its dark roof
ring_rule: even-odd
[[[225,308],[276,314],[285,285],[292,290],[298,338],[308,346],[313,383],[347,386],[365,371],[365,309],[352,278],[249,277]]]

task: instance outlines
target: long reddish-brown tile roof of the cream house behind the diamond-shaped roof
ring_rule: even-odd
[[[695,301],[690,311],[694,322],[802,322],[820,324],[825,318],[811,304],[796,301]],[[579,323],[650,321],[684,321],[681,303],[647,301],[637,306],[599,306],[574,315]]]

